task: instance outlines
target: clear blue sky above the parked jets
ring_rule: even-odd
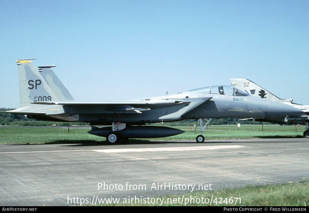
[[[309,1],[0,0],[0,108],[19,108],[17,59],[57,65],[78,101],[250,79],[309,104]]]

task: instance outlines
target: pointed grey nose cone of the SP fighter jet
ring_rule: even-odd
[[[303,113],[302,110],[277,101],[267,102],[267,117],[283,117]]]

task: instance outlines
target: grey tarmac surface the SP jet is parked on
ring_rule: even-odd
[[[0,145],[0,206],[160,202],[151,198],[297,182],[309,178],[308,152],[307,138]]]

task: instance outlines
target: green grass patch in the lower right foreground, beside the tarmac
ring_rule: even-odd
[[[97,206],[307,206],[309,204],[309,181],[281,185],[247,185],[243,188],[226,188],[218,191],[194,191],[186,194],[167,195],[140,200],[140,203],[118,204],[106,202]],[[156,201],[159,201],[159,204]],[[151,201],[151,200],[149,200]],[[168,201],[168,202],[167,202]],[[190,202],[191,201],[191,202]],[[142,202],[142,203],[141,203]],[[182,202],[182,203],[181,203]],[[211,203],[210,203],[211,202]],[[264,209],[263,209],[264,210]],[[244,211],[244,210],[242,210]]]

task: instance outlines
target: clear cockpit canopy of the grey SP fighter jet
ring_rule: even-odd
[[[189,90],[189,92],[201,92],[226,96],[249,96],[247,93],[236,89],[233,86],[211,86]]]

